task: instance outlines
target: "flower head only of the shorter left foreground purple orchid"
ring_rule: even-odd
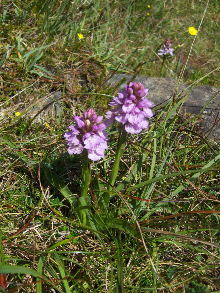
[[[76,125],[70,125],[70,131],[64,134],[69,154],[81,154],[83,149],[87,149],[89,159],[98,161],[104,158],[108,139],[102,119],[103,116],[97,116],[93,109],[87,109],[82,117],[74,116]]]

